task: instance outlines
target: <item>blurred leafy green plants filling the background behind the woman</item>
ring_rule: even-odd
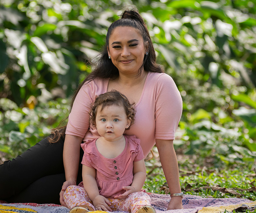
[[[194,159],[199,168],[242,165],[254,172],[255,3],[0,0],[1,161],[68,116],[70,96],[91,72],[88,59],[104,45],[110,23],[133,4],[147,22],[157,61],[182,95],[174,141],[178,156],[187,159],[181,166],[193,170]]]

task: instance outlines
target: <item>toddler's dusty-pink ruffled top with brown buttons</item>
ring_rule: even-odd
[[[130,186],[133,179],[133,162],[144,158],[140,140],[134,135],[124,135],[125,148],[115,158],[106,158],[98,151],[95,140],[82,143],[82,164],[96,169],[96,181],[100,195],[114,197],[123,194],[123,186]]]

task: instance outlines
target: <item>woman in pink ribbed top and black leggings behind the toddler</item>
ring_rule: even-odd
[[[73,97],[66,130],[56,130],[54,136],[48,138],[57,143],[49,144],[48,139],[44,139],[21,156],[0,166],[0,172],[4,174],[4,177],[0,178],[0,192],[11,189],[5,197],[0,194],[0,199],[8,202],[21,202],[23,199],[23,202],[27,194],[41,186],[42,192],[32,198],[40,197],[42,203],[48,194],[54,196],[53,200],[56,199],[55,191],[60,187],[61,181],[63,183],[63,179],[66,179],[60,191],[60,203],[65,205],[63,193],[66,188],[81,182],[80,144],[82,141],[99,137],[97,130],[89,124],[90,104],[97,95],[112,89],[123,93],[129,101],[136,103],[136,122],[124,134],[135,135],[140,139],[144,156],[148,155],[156,143],[166,181],[173,196],[168,209],[181,209],[179,170],[173,140],[181,117],[182,100],[172,78],[163,73],[162,67],[156,64],[156,54],[148,29],[140,14],[134,10],[124,11],[122,18],[108,28],[106,46],[98,64]],[[60,155],[64,136],[62,163]],[[34,170],[36,163],[38,169]],[[28,172],[29,178],[17,181],[17,174],[24,174],[24,170],[25,174]],[[12,181],[14,186],[6,184],[8,181]],[[50,185],[52,192],[43,190],[44,185],[47,185],[47,188]],[[26,199],[26,202],[32,202]]]

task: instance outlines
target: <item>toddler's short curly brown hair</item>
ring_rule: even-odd
[[[90,123],[92,126],[96,125],[96,115],[97,115],[97,108],[98,106],[101,106],[101,110],[104,109],[106,106],[110,105],[117,105],[124,107],[125,114],[127,116],[127,119],[131,120],[130,126],[134,123],[134,117],[135,117],[135,103],[130,103],[128,101],[128,98],[121,94],[120,92],[116,90],[111,90],[110,92],[106,92],[103,94],[100,94],[92,103],[91,105],[91,111],[90,114]],[[130,126],[127,129],[130,129]]]

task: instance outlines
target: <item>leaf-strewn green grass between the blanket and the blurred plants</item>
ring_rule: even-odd
[[[205,166],[205,162],[200,157],[177,155],[177,158],[180,170],[180,185],[184,194],[198,195],[203,198],[236,197],[251,201],[256,200],[254,165],[222,164],[222,167],[217,168],[209,162]],[[153,159],[146,162],[146,168],[148,173],[144,185],[146,191],[170,194],[157,154]],[[256,212],[256,210],[241,212],[249,213]],[[226,211],[226,213],[229,212]]]

